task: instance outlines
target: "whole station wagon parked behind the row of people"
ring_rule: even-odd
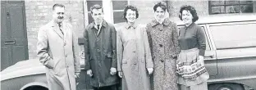
[[[178,18],[171,20],[178,27],[183,25]],[[256,15],[200,16],[196,23],[207,38],[204,62],[210,74],[208,90],[256,89]],[[80,64],[83,68],[85,61]],[[44,68],[38,59],[11,65],[1,72],[1,90],[47,90]],[[90,88],[85,83],[85,70],[78,81],[79,90]]]

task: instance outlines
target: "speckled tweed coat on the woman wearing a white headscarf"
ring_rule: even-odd
[[[154,90],[177,90],[177,74],[175,57],[180,52],[178,46],[178,30],[175,23],[165,19],[162,24],[153,20],[147,25],[149,46],[153,56]]]

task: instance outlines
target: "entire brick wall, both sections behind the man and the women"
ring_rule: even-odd
[[[141,0],[130,1],[130,5],[134,5],[139,9],[139,19],[141,24],[147,24],[153,20],[153,6],[156,2],[163,0]],[[75,34],[82,37],[84,22],[84,5],[83,0],[65,0],[65,1],[34,1],[25,0],[25,14],[28,35],[28,47],[30,59],[36,57],[37,33],[42,25],[52,20],[53,4],[62,3],[66,7],[66,21],[70,21],[73,25]],[[170,16],[178,16],[182,5],[192,5],[198,11],[199,16],[208,15],[208,1],[167,1]],[[197,6],[195,6],[197,5]]]

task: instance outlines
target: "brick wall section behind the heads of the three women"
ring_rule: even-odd
[[[153,20],[153,6],[157,2],[166,2],[167,9],[169,11],[170,16],[178,17],[180,7],[183,5],[191,5],[193,6],[199,16],[207,16],[208,15],[208,1],[164,1],[164,0],[141,0],[141,1],[130,1],[130,5],[134,5],[139,10],[139,18],[138,22],[142,24],[147,24],[151,20]],[[196,6],[195,6],[196,5]]]

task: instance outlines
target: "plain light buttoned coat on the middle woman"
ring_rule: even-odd
[[[117,29],[117,62],[122,90],[150,90],[147,68],[153,68],[153,61],[145,26],[125,23]]]

